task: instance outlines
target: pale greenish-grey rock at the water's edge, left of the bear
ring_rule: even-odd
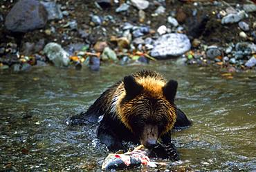
[[[44,47],[44,54],[56,67],[68,66],[69,54],[57,43],[48,43]]]

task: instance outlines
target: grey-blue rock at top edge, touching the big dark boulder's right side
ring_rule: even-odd
[[[63,19],[62,10],[60,10],[60,5],[55,3],[55,1],[41,1],[41,3],[48,12],[48,20]]]

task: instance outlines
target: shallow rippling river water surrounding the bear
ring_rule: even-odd
[[[0,171],[100,171],[107,152],[93,147],[93,129],[68,127],[64,120],[142,68],[179,81],[176,104],[193,120],[192,127],[172,136],[182,161],[158,160],[167,162],[158,169],[256,170],[256,72],[227,79],[217,69],[159,64],[1,73]]]

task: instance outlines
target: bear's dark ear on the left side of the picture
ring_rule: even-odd
[[[125,76],[124,84],[127,98],[134,98],[143,90],[143,86],[139,85],[133,76]]]

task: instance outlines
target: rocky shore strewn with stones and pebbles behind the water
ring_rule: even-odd
[[[0,2],[0,69],[143,65],[175,59],[256,69],[255,1]]]

